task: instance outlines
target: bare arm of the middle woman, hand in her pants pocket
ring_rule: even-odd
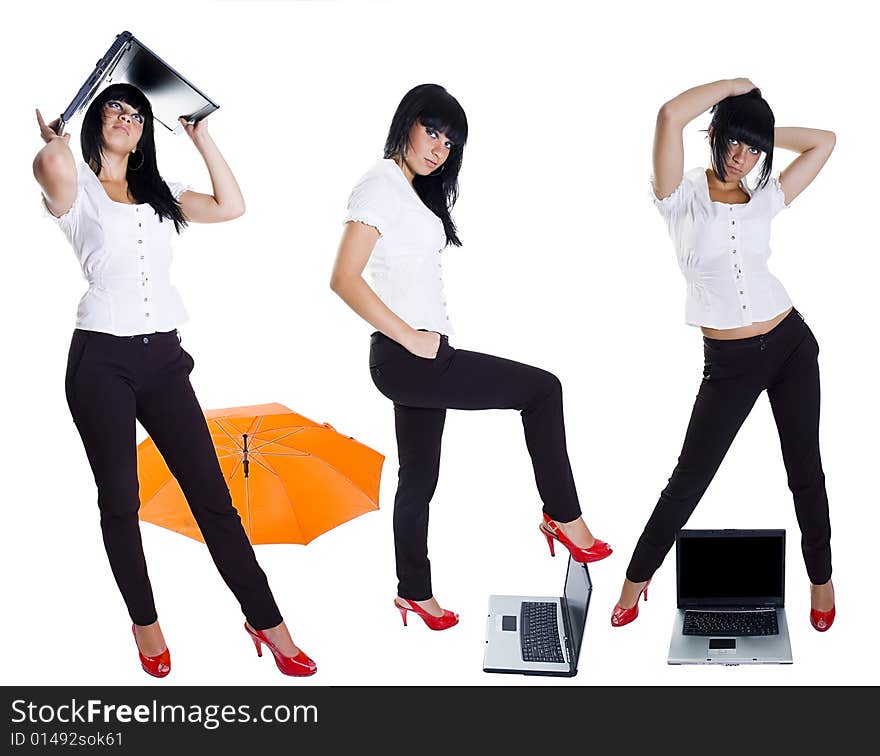
[[[379,232],[372,226],[358,221],[345,224],[330,277],[330,288],[377,331],[418,357],[436,357],[440,348],[439,334],[410,327],[364,281],[364,268],[378,239]]]

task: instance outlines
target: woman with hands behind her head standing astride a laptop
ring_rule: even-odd
[[[684,172],[682,130],[712,109],[710,166]],[[767,268],[770,221],[818,175],[830,131],[775,126],[748,79],[694,87],[660,109],[654,202],[687,281],[686,321],[703,333],[705,366],[678,464],[636,545],[611,624],[638,616],[638,599],[712,481],[758,396],[767,391],[811,582],[810,621],[834,621],[831,526],[819,456],[819,347]],[[779,178],[773,150],[797,153]],[[746,177],[760,164],[755,188]]]

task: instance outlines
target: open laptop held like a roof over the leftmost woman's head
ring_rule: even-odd
[[[136,39],[131,32],[116,35],[113,44],[95,64],[85,83],[61,114],[57,132],[79,112],[105,85],[132,84],[150,100],[153,117],[170,131],[177,129],[180,116],[195,123],[220,106],[191,84],[164,60]]]

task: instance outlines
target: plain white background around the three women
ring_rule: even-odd
[[[586,685],[865,684],[877,681],[877,155],[875,27],[862,4],[79,2],[21,5],[2,31],[4,548],[7,684]],[[123,29],[216,99],[211,131],[247,213],[176,241],[182,328],[205,408],[281,402],[386,455],[381,509],[307,547],[257,556],[318,674],[258,660],[204,546],[143,525],[173,670],[141,671],[110,574],[96,493],[64,399],[85,290],[42,217],[34,107],[57,115]],[[16,72],[21,74],[17,75]],[[766,398],[689,527],[785,528],[788,667],[668,667],[674,556],[638,620],[609,616],[629,556],[675,464],[700,383],[697,329],[651,205],[654,117],[683,89],[748,76],[779,125],[837,133],[818,180],[774,223],[771,269],[821,345],[822,455],[838,617],[809,625],[809,590]],[[541,502],[515,412],[449,414],[431,508],[435,594],[461,615],[404,629],[395,592],[391,403],[367,370],[368,334],[329,289],[349,190],[381,156],[397,103],[438,82],[471,137],[444,254],[453,345],[536,364],[565,388],[585,517],[614,555],[594,591],[573,680],[482,672],[487,597],[555,594],[565,560],[538,534]],[[702,117],[686,167],[706,165]],[[77,145],[78,122],[72,126]],[[185,136],[157,133],[160,169],[207,191]],[[79,157],[78,147],[75,150]],[[776,154],[777,171],[790,154]],[[143,437],[139,429],[138,438]]]

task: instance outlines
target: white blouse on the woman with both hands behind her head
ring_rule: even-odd
[[[775,177],[754,192],[744,181],[742,187],[748,202],[715,202],[705,169],[694,168],[668,197],[654,197],[687,281],[688,325],[738,328],[791,307],[767,268],[770,221],[788,207],[782,187]]]

